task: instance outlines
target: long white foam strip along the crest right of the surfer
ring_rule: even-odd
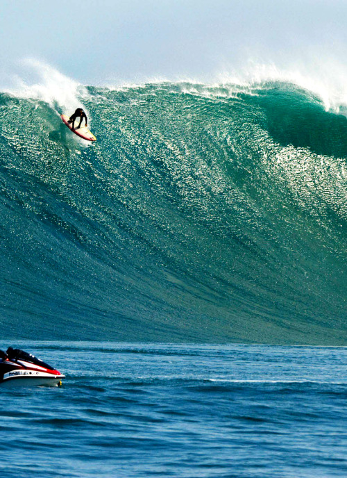
[[[258,60],[245,61],[243,67],[226,66],[208,78],[198,79],[189,76],[176,78],[156,77],[140,82],[114,82],[105,85],[110,90],[127,91],[141,88],[146,84],[160,85],[172,83],[180,85],[187,94],[198,94],[212,99],[218,97],[235,97],[239,93],[257,94],[259,87],[266,88],[273,82],[291,83],[312,92],[319,97],[325,110],[335,113],[347,108],[347,67],[331,58],[319,58],[316,62],[287,64],[285,67],[276,63],[263,63]]]

